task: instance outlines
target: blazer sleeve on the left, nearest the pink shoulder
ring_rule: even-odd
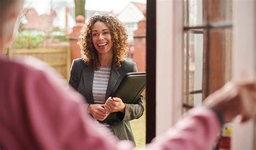
[[[75,60],[73,60],[71,65],[69,85],[71,85],[75,90],[78,88],[78,72]]]

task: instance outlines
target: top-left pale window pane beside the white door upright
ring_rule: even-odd
[[[203,25],[203,0],[184,0],[185,26]]]

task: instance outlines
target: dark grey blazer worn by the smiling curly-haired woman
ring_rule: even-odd
[[[118,68],[115,63],[112,63],[109,84],[107,85],[105,99],[109,98],[116,90],[121,80],[128,72],[137,72],[135,63],[124,60],[121,67]],[[69,85],[84,96],[88,104],[95,104],[92,96],[93,84],[93,66],[88,66],[82,58],[73,60]],[[114,134],[120,140],[134,141],[130,120],[138,119],[144,112],[143,96],[140,96],[135,104],[125,104],[125,114],[119,113],[119,120],[108,122],[113,128]]]

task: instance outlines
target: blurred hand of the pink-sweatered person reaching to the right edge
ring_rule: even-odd
[[[204,104],[214,107],[223,115],[224,122],[231,122],[241,115],[241,122],[256,118],[256,84],[255,82],[228,82],[220,90],[211,94]]]

